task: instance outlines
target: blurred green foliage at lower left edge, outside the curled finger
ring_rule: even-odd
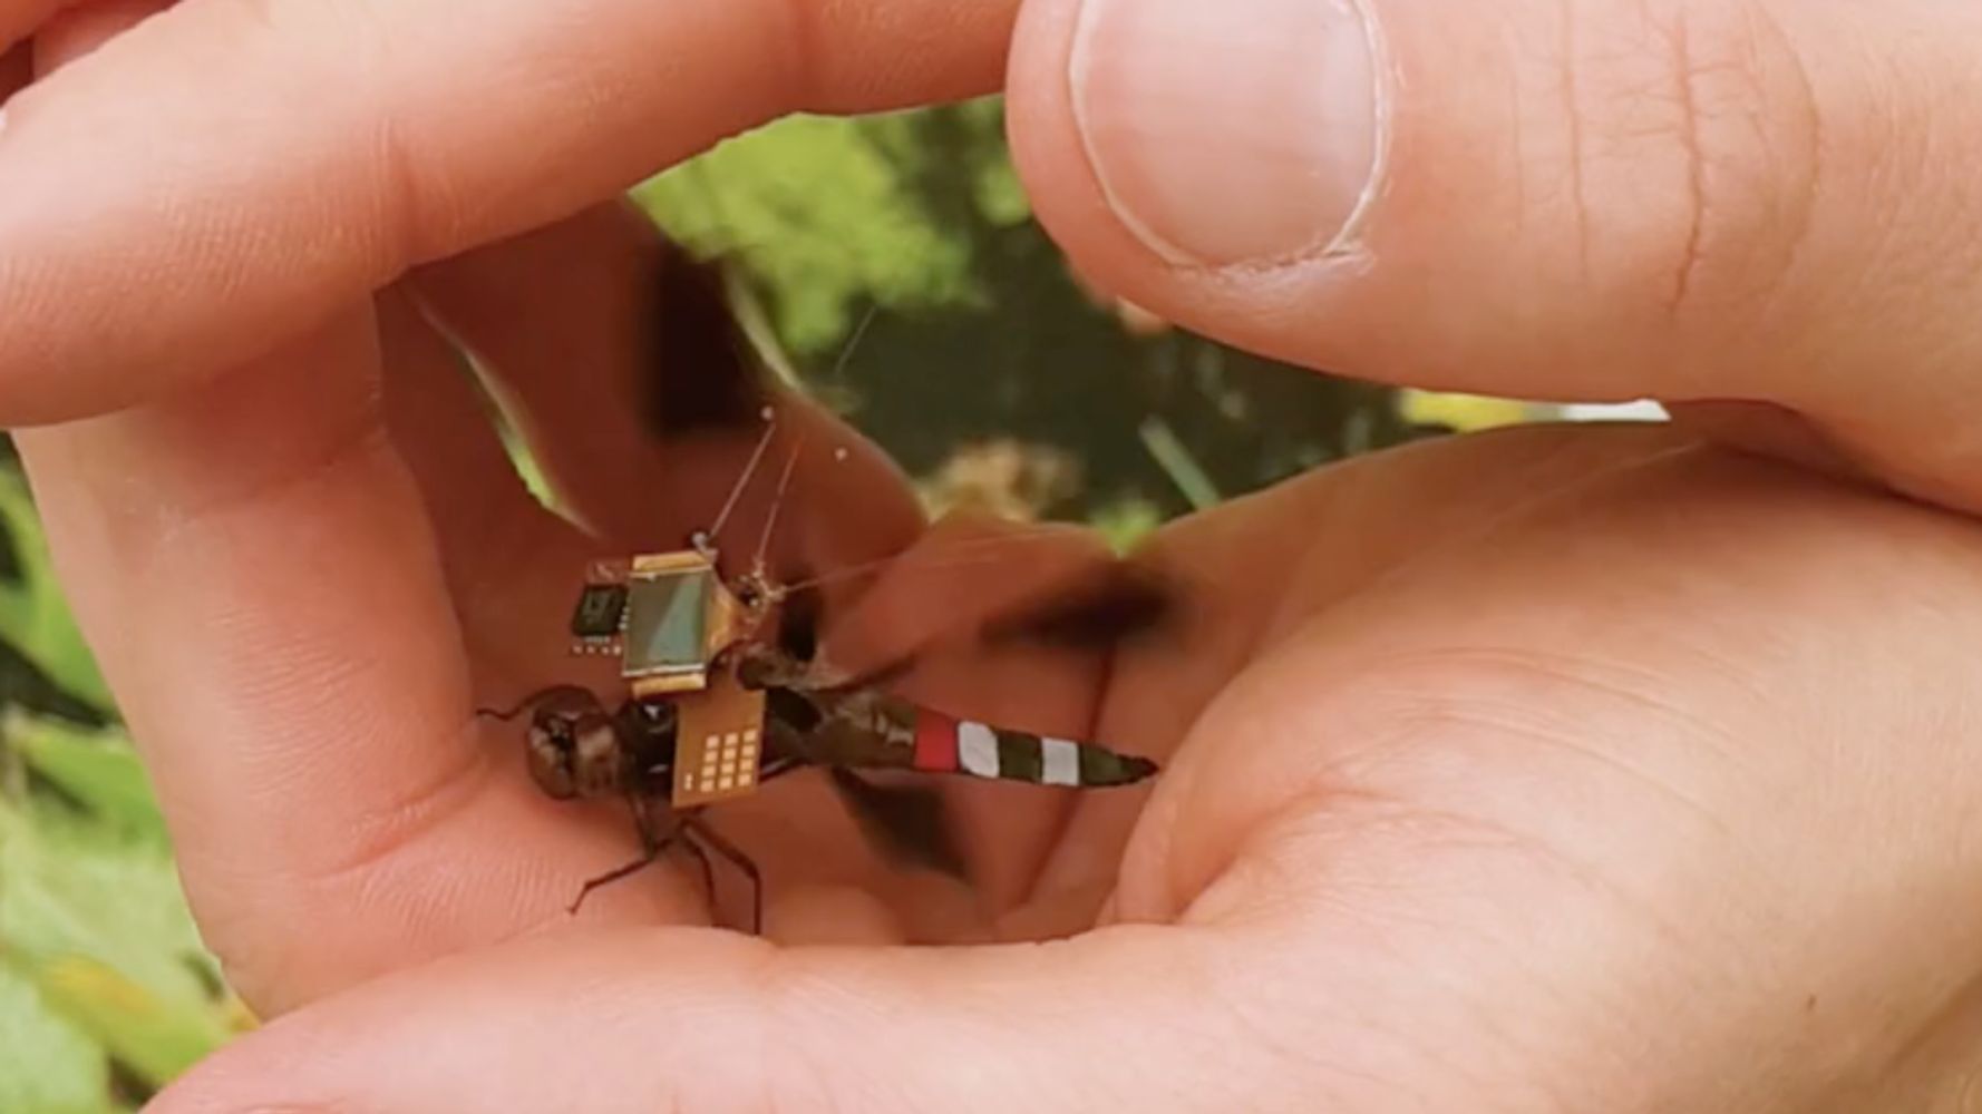
[[[165,821],[48,569],[26,484],[0,472],[0,1110],[129,1108],[238,1027]]]

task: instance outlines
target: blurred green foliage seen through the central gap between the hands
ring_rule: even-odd
[[[912,476],[1017,446],[1076,470],[1039,513],[1120,527],[1417,432],[1387,389],[1217,345],[1092,289],[1031,220],[1003,127],[997,99],[795,117],[636,198],[678,240],[739,264],[799,379]]]

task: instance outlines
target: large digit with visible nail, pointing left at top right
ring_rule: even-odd
[[[1167,319],[1421,387],[1780,402],[1974,509],[1978,34],[1917,0],[1046,0],[1011,119],[1041,218]]]

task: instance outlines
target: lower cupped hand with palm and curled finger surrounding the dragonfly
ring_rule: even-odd
[[[541,351],[610,335],[559,331],[614,283],[541,248],[587,238],[468,260],[430,303],[527,392],[545,365],[474,307],[541,276]],[[85,620],[127,632],[105,666],[202,926],[285,1013],[163,1112],[1962,1102],[1982,846],[1950,743],[1982,541],[1958,519],[1659,428],[1368,458],[1165,531],[1173,642],[924,680],[1161,755],[1152,795],[963,787],[969,894],[882,870],[781,781],[719,825],[783,947],[662,928],[708,916],[688,870],[573,922],[624,821],[539,799],[466,710],[553,668],[527,658],[585,547],[476,450],[472,400],[442,404],[440,345],[385,321],[386,430],[331,442],[357,452],[287,446],[337,428],[307,385],[379,375],[363,345],[244,371],[168,436],[30,438]],[[258,383],[285,387],[242,402]],[[567,488],[640,490],[597,480]],[[476,533],[494,507],[533,525]],[[896,607],[955,589],[910,577]]]

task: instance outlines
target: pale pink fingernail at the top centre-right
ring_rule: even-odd
[[[1074,119],[1116,216],[1173,264],[1352,250],[1381,180],[1362,0],[1086,0]]]

